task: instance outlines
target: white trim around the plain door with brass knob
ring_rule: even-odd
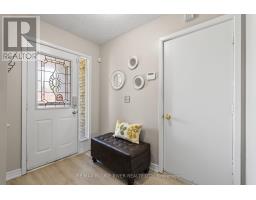
[[[242,102],[241,102],[241,76],[242,76],[242,60],[241,60],[241,15],[224,15],[215,19],[203,22],[190,28],[175,32],[167,37],[160,39],[160,63],[159,63],[159,117],[158,117],[158,130],[159,130],[159,171],[164,170],[164,42],[172,40],[195,31],[205,29],[216,24],[220,24],[229,20],[234,22],[234,115],[233,115],[233,184],[241,184],[241,115],[242,115]]]

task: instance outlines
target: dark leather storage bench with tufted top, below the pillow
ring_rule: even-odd
[[[93,162],[100,161],[115,174],[134,183],[137,174],[148,173],[150,165],[150,144],[134,144],[107,133],[91,139]]]

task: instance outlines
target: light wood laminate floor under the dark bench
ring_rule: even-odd
[[[124,185],[100,163],[93,163],[86,153],[56,161],[7,182],[10,185]],[[174,176],[150,171],[135,179],[136,185],[181,185]]]

